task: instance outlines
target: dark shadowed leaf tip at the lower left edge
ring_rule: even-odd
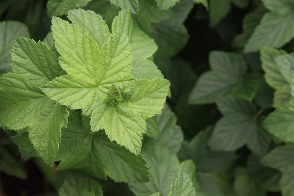
[[[23,165],[3,147],[0,147],[0,171],[23,180],[26,179]]]

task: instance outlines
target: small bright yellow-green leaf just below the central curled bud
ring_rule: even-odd
[[[97,103],[91,117],[92,130],[104,129],[110,141],[115,140],[131,152],[139,154],[142,133],[146,132],[144,120],[161,113],[169,86],[170,83],[161,78],[133,80],[126,87],[132,95],[123,103]]]

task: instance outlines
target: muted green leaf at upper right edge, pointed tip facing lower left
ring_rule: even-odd
[[[258,51],[262,47],[282,47],[294,37],[292,26],[294,26],[294,12],[286,15],[266,13],[247,42],[244,52]]]

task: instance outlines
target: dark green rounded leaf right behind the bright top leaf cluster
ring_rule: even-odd
[[[156,56],[167,58],[176,55],[184,48],[189,39],[189,34],[182,23],[171,19],[153,25],[151,37],[158,45]]]

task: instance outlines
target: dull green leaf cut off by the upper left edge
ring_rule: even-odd
[[[29,36],[27,27],[19,22],[8,21],[0,23],[0,71],[10,70],[10,50],[12,43],[19,36]]]

